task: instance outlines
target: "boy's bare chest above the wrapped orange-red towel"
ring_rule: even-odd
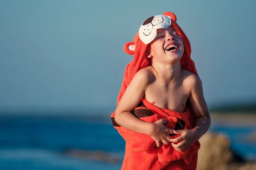
[[[186,109],[189,96],[189,89],[182,83],[180,85],[164,85],[156,82],[148,85],[144,97],[158,108],[183,112]]]

